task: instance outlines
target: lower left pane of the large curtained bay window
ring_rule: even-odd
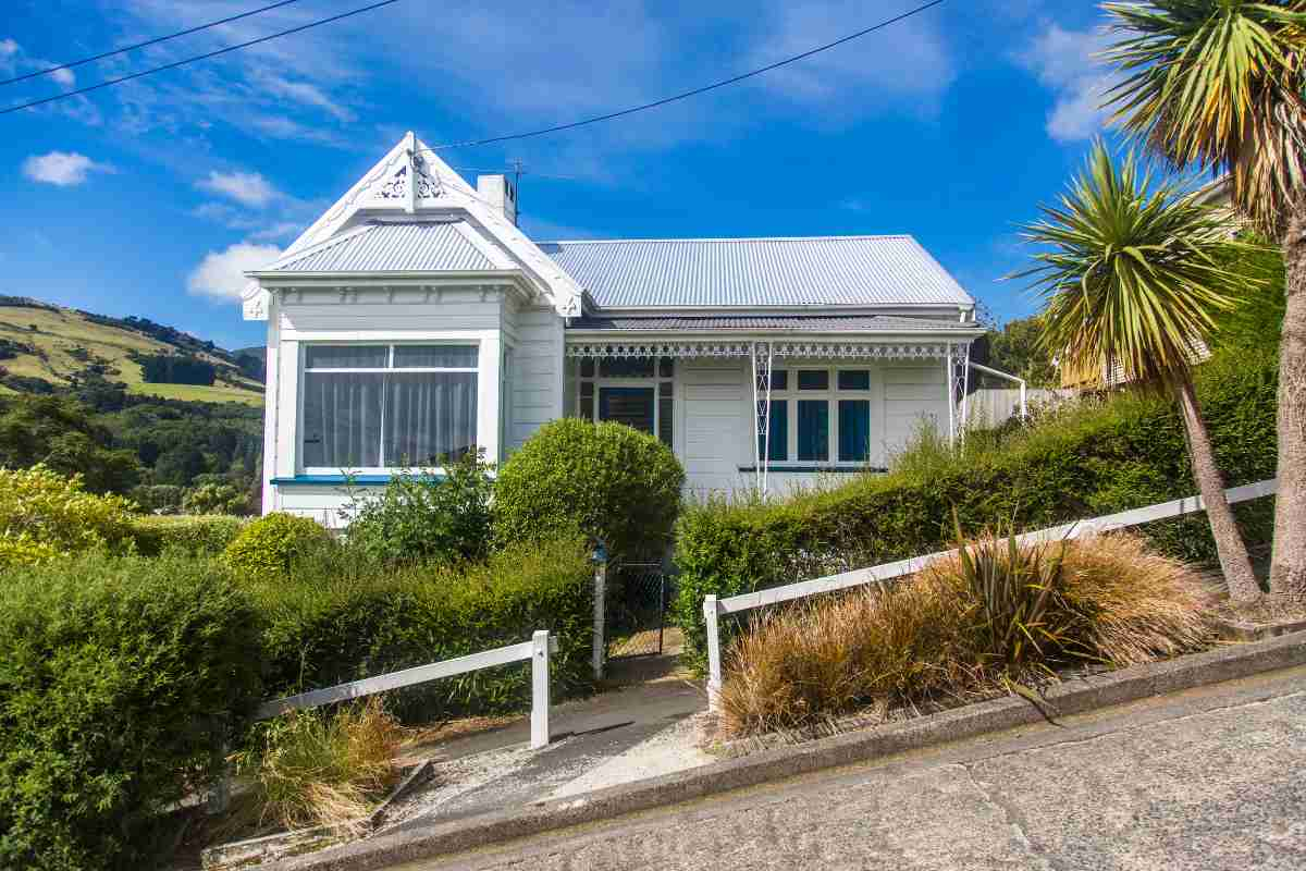
[[[381,372],[304,373],[306,466],[381,465]]]

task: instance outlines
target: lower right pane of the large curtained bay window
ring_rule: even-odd
[[[436,466],[475,448],[475,372],[394,372],[387,380],[387,466]]]

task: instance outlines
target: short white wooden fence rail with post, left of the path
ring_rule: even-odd
[[[530,641],[512,644],[505,648],[483,650],[454,659],[444,659],[424,666],[414,666],[402,671],[350,680],[334,687],[311,689],[296,696],[286,696],[274,701],[266,701],[255,714],[255,720],[270,720],[287,710],[302,710],[317,708],[334,701],[349,701],[362,699],[377,692],[413,687],[440,678],[452,678],[469,671],[492,669],[494,666],[508,665],[530,659],[530,746],[533,748],[549,744],[549,656],[558,652],[558,639],[541,629],[530,636]]]

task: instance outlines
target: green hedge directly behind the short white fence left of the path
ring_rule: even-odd
[[[296,562],[289,580],[247,584],[268,620],[276,692],[326,687],[530,639],[558,636],[552,688],[590,687],[593,568],[582,545],[513,546],[485,565],[377,568],[350,548]],[[529,705],[529,663],[438,680],[396,693],[406,718],[517,710]]]

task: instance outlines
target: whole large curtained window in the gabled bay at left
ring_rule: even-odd
[[[477,444],[474,345],[310,345],[306,469],[434,466]]]

